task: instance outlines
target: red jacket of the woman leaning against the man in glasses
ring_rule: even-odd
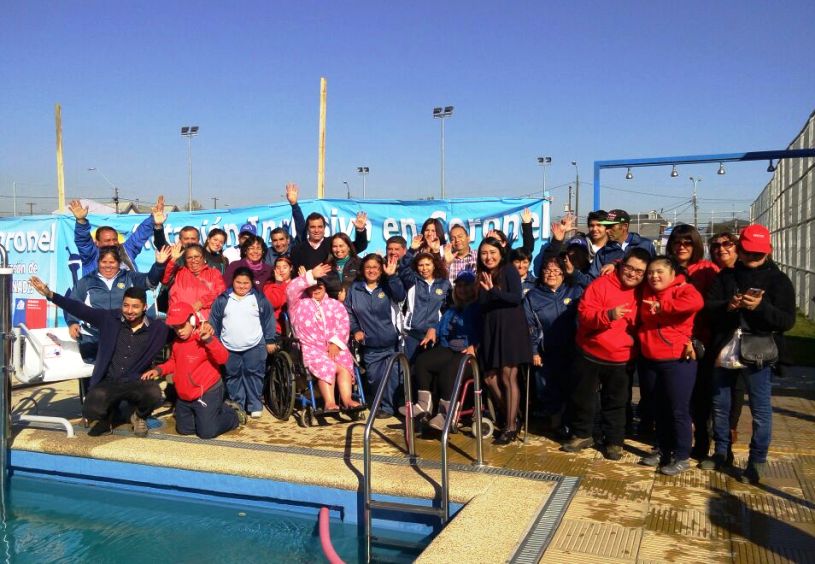
[[[652,308],[646,302],[659,305]],[[679,360],[693,334],[696,313],[704,305],[702,294],[682,274],[658,292],[645,285],[637,329],[642,356],[648,360]]]

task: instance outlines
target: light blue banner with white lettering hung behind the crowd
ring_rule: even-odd
[[[534,198],[483,198],[455,200],[304,200],[303,214],[312,212],[326,218],[326,236],[344,231],[353,238],[357,212],[368,214],[368,252],[384,253],[385,241],[401,235],[409,242],[419,233],[429,217],[439,218],[447,230],[463,225],[470,234],[472,245],[492,229],[506,233],[510,241],[520,239],[521,212],[532,213],[535,251],[549,238],[549,202]],[[120,240],[132,233],[147,215],[89,215],[92,228],[110,225],[119,231]],[[201,232],[201,241],[214,227],[227,233],[226,246],[237,244],[238,231],[245,223],[257,227],[258,235],[267,242],[272,229],[286,227],[296,236],[288,202],[229,210],[201,210],[169,214],[164,225],[167,239],[175,242],[187,225]],[[74,244],[74,218],[69,215],[24,216],[0,219],[0,245],[9,253],[14,271],[14,323],[25,322],[29,327],[53,327],[64,324],[54,306],[47,304],[28,283],[32,275],[42,278],[55,291],[64,294],[82,276],[82,268]],[[148,241],[136,259],[136,267],[147,271],[153,263],[153,245]]]

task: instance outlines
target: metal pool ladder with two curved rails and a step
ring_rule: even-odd
[[[482,452],[482,435],[481,435],[481,387],[480,387],[480,373],[478,369],[478,362],[472,355],[462,355],[461,361],[458,365],[455,383],[453,384],[453,393],[450,409],[444,419],[444,428],[441,434],[441,500],[438,507],[418,505],[414,503],[400,503],[393,501],[381,501],[373,499],[371,492],[371,431],[373,430],[374,423],[376,422],[376,413],[382,403],[382,396],[388,387],[388,380],[391,378],[393,364],[399,363],[399,367],[404,374],[404,388],[405,388],[405,406],[407,408],[407,417],[405,417],[405,442],[407,443],[408,460],[411,466],[415,466],[419,457],[416,455],[416,430],[414,428],[414,421],[412,417],[413,409],[413,388],[411,386],[410,375],[410,362],[404,353],[396,353],[388,359],[386,365],[385,375],[379,383],[379,388],[374,396],[374,401],[371,403],[368,421],[365,423],[365,433],[363,436],[363,482],[364,482],[364,496],[365,496],[365,556],[366,562],[371,561],[371,541],[373,532],[373,510],[386,510],[402,513],[413,513],[418,515],[429,515],[431,517],[438,517],[440,524],[445,525],[450,519],[450,476],[448,472],[447,463],[447,444],[450,437],[450,427],[453,424],[453,419],[456,414],[456,398],[459,396],[462,382],[464,380],[464,372],[469,364],[473,372],[473,392],[475,394],[475,406],[473,424],[475,426],[475,444],[476,444],[476,459],[473,464],[477,467],[484,466],[484,457]],[[434,500],[435,501],[435,500]]]

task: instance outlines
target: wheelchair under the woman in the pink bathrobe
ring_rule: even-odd
[[[288,421],[290,417],[294,416],[301,427],[323,425],[327,415],[339,418],[339,413],[346,415],[351,421],[364,419],[364,412],[368,406],[362,386],[356,345],[352,343],[350,347],[351,355],[354,358],[352,396],[360,403],[360,406],[353,409],[342,409],[339,413],[325,413],[317,402],[319,391],[314,382],[315,377],[303,364],[300,341],[294,334],[287,317],[281,320],[281,325],[283,331],[278,343],[280,348],[270,354],[266,360],[264,396],[272,415],[281,421]]]

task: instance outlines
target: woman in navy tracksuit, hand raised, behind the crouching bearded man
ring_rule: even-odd
[[[121,309],[125,290],[136,286],[149,290],[158,286],[170,258],[171,248],[165,246],[156,251],[156,262],[147,273],[123,270],[118,247],[99,249],[99,262],[96,270],[80,278],[69,294],[71,299],[83,302],[97,309]],[[66,312],[68,331],[79,342],[82,360],[93,364],[99,346],[99,330],[82,323],[77,317]]]

